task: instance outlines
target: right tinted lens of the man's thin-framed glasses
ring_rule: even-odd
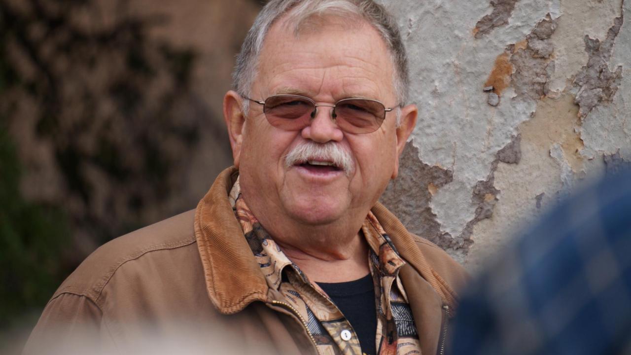
[[[335,106],[336,121],[349,133],[370,133],[381,126],[386,107],[380,102],[365,99],[340,100]]]

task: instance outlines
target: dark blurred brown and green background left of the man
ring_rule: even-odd
[[[168,19],[113,1],[102,21],[95,0],[0,0],[0,330],[40,310],[85,257],[76,236],[102,244],[164,212],[208,120],[186,114],[196,52],[148,35]],[[29,138],[10,135],[20,120]],[[47,203],[21,190],[34,173],[18,149],[33,141],[55,169],[30,181],[61,191]]]

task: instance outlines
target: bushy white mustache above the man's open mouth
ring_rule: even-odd
[[[346,176],[350,176],[355,168],[351,153],[342,145],[333,142],[322,144],[314,141],[306,141],[293,147],[285,156],[285,166],[292,167],[314,159],[332,162],[336,167],[342,169]]]

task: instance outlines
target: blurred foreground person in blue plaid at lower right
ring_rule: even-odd
[[[451,354],[631,354],[631,171],[555,207],[471,285]]]

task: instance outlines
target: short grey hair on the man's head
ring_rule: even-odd
[[[240,95],[251,95],[252,83],[256,78],[259,54],[269,28],[278,18],[287,14],[295,24],[295,33],[305,20],[312,16],[338,15],[357,16],[367,21],[379,32],[386,42],[394,66],[393,86],[403,106],[408,100],[408,56],[405,52],[399,28],[391,15],[380,4],[372,0],[271,0],[256,17],[250,28],[241,51],[237,56],[237,65],[232,73],[233,90]],[[247,112],[249,101],[244,100],[244,111]],[[400,111],[397,111],[397,122]]]

